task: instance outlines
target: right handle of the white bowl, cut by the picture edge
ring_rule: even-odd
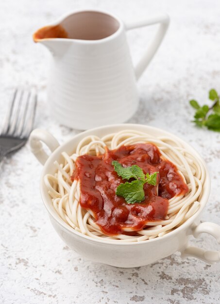
[[[212,223],[212,222],[203,222],[198,226],[192,229],[192,235],[194,237],[200,236],[203,232],[214,236],[217,242],[220,244],[220,226]],[[199,247],[188,246],[182,252],[182,257],[186,256],[194,256],[198,259],[208,263],[208,264],[215,264],[216,262],[220,262],[220,252],[219,251],[211,251],[211,250],[204,250]]]

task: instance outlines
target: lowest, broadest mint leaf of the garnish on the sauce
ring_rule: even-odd
[[[116,189],[116,195],[122,196],[129,204],[140,203],[144,200],[144,183],[135,180],[131,183],[120,184]]]

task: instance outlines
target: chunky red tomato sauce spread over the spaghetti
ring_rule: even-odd
[[[128,204],[116,195],[122,180],[112,166],[117,160],[123,167],[137,165],[144,173],[158,171],[158,195],[156,186],[144,184],[145,199],[141,203]],[[182,176],[174,164],[161,157],[158,148],[150,143],[121,146],[108,150],[103,155],[82,155],[76,160],[72,179],[80,181],[80,205],[91,210],[96,224],[105,235],[134,235],[123,232],[123,228],[134,231],[143,229],[148,221],[164,220],[167,216],[169,199],[188,192]],[[129,180],[129,181],[132,181]]]

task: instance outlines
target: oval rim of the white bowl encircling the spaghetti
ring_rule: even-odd
[[[174,236],[175,234],[178,234],[181,230],[187,229],[187,227],[189,227],[194,221],[195,219],[199,216],[199,214],[203,211],[203,208],[205,206],[205,204],[207,203],[208,197],[209,197],[209,193],[210,193],[210,175],[207,169],[207,166],[203,160],[203,158],[200,156],[200,154],[191,146],[189,145],[185,140],[181,139],[180,137],[173,135],[172,133],[169,133],[167,131],[164,131],[163,129],[160,128],[156,128],[156,127],[152,127],[152,126],[148,126],[148,125],[142,125],[142,124],[131,124],[131,123],[126,123],[126,124],[113,124],[113,125],[106,125],[106,126],[102,126],[102,127],[97,127],[94,129],[89,129],[86,130],[82,133],[79,133],[77,135],[74,135],[72,138],[70,138],[68,141],[66,141],[65,143],[61,144],[57,149],[55,149],[51,155],[49,156],[49,158],[47,159],[46,163],[44,164],[42,173],[41,173],[41,178],[40,178],[40,193],[41,193],[41,198],[42,201],[47,209],[47,211],[49,212],[49,214],[51,215],[51,217],[58,223],[60,224],[65,230],[68,230],[68,232],[72,233],[72,234],[76,234],[82,238],[85,238],[85,240],[89,240],[91,242],[94,243],[102,243],[102,244],[113,244],[112,241],[110,240],[102,240],[102,239],[96,239],[96,238],[92,238],[91,236],[86,236],[84,234],[82,234],[81,232],[78,232],[76,230],[74,230],[72,227],[70,227],[64,220],[62,220],[58,214],[56,214],[55,210],[52,211],[51,208],[51,199],[49,197],[49,194],[47,193],[47,189],[46,186],[44,184],[44,176],[48,173],[49,171],[49,167],[51,167],[51,165],[53,165],[53,162],[60,156],[61,152],[64,152],[64,147],[70,145],[72,142],[74,141],[78,141],[79,142],[79,138],[82,137],[82,135],[96,135],[96,132],[99,131],[104,131],[109,129],[109,132],[106,133],[110,134],[113,133],[113,131],[111,131],[111,129],[117,129],[118,128],[118,132],[121,131],[121,129],[135,129],[137,131],[141,131],[144,132],[141,129],[145,129],[146,128],[146,132],[149,131],[154,131],[154,132],[161,132],[161,135],[167,135],[170,138],[173,138],[179,142],[181,142],[182,144],[184,144],[184,146],[190,150],[190,152],[193,152],[193,154],[200,159],[200,161],[203,163],[204,169],[205,169],[205,191],[203,191],[203,193],[201,194],[201,198],[200,198],[200,207],[199,209],[189,218],[187,219],[183,224],[181,224],[181,226],[173,229],[171,232],[165,234],[164,236],[161,236],[163,239],[164,238],[168,238],[171,236]],[[139,129],[139,130],[138,130]],[[148,130],[147,130],[148,129]],[[117,131],[114,131],[117,132]],[[82,139],[82,138],[81,138]],[[204,188],[203,188],[204,190]],[[117,240],[114,241],[114,245],[120,245],[120,246],[138,246],[140,244],[145,244],[145,243],[150,243],[150,242],[158,242],[160,241],[161,237],[156,237],[153,239],[147,239],[147,240],[143,240],[140,242],[122,242],[121,240]]]

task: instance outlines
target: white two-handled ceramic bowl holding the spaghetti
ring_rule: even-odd
[[[180,227],[174,229],[168,234],[157,237],[151,240],[123,243],[120,240],[117,243],[112,243],[107,240],[93,239],[89,236],[85,236],[77,231],[74,231],[68,224],[66,224],[55,212],[51,197],[48,194],[47,187],[44,184],[44,176],[47,173],[54,174],[56,168],[54,167],[54,161],[61,161],[61,152],[67,152],[71,154],[76,149],[79,141],[87,135],[97,135],[102,137],[114,132],[119,132],[125,129],[133,129],[141,132],[146,132],[155,136],[169,136],[179,142],[203,162],[206,179],[203,185],[203,191],[200,196],[201,206],[199,210]],[[42,148],[41,141],[44,142],[51,150],[51,155],[48,157]],[[220,261],[220,252],[205,251],[197,247],[189,247],[187,245],[190,235],[198,237],[201,233],[206,232],[214,236],[220,243],[220,226],[211,223],[200,223],[201,212],[207,203],[210,192],[210,177],[206,165],[201,156],[185,141],[172,135],[166,131],[158,128],[149,127],[146,125],[138,124],[119,124],[103,126],[96,129],[88,130],[72,137],[65,144],[59,146],[57,140],[48,132],[36,129],[30,136],[31,150],[37,159],[44,165],[41,174],[40,191],[44,202],[44,205],[50,215],[51,223],[58,233],[58,235],[64,240],[69,248],[82,254],[89,260],[104,263],[116,267],[138,267],[151,264],[161,258],[164,258],[176,251],[182,253],[183,256],[194,256],[203,261],[213,264]]]

